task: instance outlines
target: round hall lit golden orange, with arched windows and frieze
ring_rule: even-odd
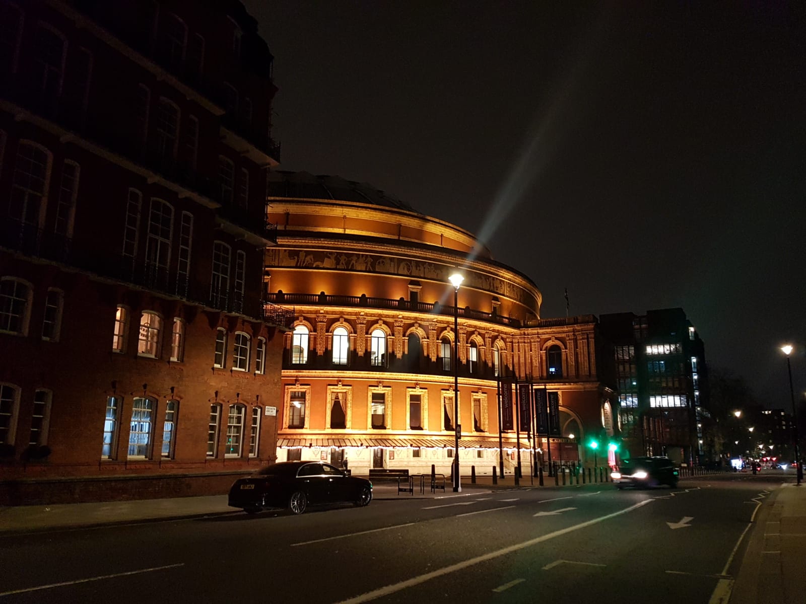
[[[368,184],[305,172],[269,175],[268,221],[277,245],[266,250],[264,297],[295,317],[276,461],[450,474],[459,426],[461,474],[492,474],[502,458],[511,475],[520,458],[526,475],[533,457],[592,464],[584,438],[613,436],[615,395],[600,379],[612,352],[596,317],[541,319],[534,281],[473,234]],[[555,403],[553,436],[538,430],[533,441],[514,412],[518,382]]]

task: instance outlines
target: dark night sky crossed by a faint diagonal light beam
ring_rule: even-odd
[[[286,170],[483,238],[541,315],[682,307],[706,358],[806,391],[806,12],[758,2],[244,0]],[[707,6],[702,6],[703,4]]]

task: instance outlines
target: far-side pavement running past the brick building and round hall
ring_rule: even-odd
[[[553,484],[553,483],[552,483]],[[404,484],[403,486],[407,486]],[[521,480],[521,487],[531,486],[529,477]],[[535,479],[537,486],[537,479]],[[546,486],[549,484],[546,482]],[[397,480],[372,483],[373,499],[442,499],[488,493],[493,489],[515,488],[508,476],[497,485],[492,478],[480,477],[475,485],[470,477],[463,477],[462,492],[453,493],[451,482],[445,492],[431,493],[426,482],[425,493],[420,493],[419,481],[415,480],[414,494],[397,493]],[[156,520],[201,518],[243,512],[226,505],[226,494],[206,497],[177,497],[172,499],[138,499],[135,501],[109,501],[100,503],[60,503],[51,506],[0,507],[0,536],[20,532],[43,532],[77,527],[94,527],[109,524],[128,524]]]

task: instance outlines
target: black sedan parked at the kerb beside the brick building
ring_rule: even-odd
[[[372,482],[347,476],[333,465],[320,461],[284,461],[267,465],[230,487],[229,505],[247,514],[266,507],[288,507],[301,514],[308,506],[323,503],[353,503],[368,506]]]

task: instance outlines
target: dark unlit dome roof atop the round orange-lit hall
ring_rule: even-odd
[[[277,170],[268,175],[268,197],[326,199],[380,205],[419,214],[405,201],[392,197],[368,183],[345,180],[340,176],[314,176],[308,172]]]

